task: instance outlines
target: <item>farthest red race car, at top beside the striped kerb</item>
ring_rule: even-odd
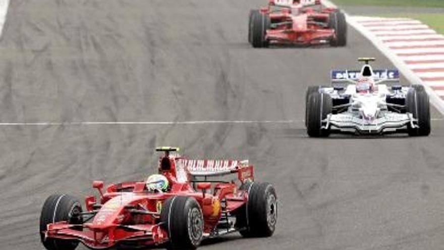
[[[250,11],[248,41],[253,47],[345,46],[347,22],[344,13],[323,8],[320,0],[269,0],[267,7]]]

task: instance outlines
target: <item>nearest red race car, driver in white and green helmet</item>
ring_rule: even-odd
[[[158,174],[146,181],[92,186],[100,197],[85,198],[86,211],[73,196],[49,196],[40,216],[41,242],[48,250],[145,247],[194,249],[202,239],[240,232],[271,236],[278,202],[274,187],[253,182],[248,161],[188,160],[174,147],[160,147]],[[207,180],[236,174],[234,180]],[[204,179],[202,179],[204,178]],[[214,178],[212,178],[214,179]]]

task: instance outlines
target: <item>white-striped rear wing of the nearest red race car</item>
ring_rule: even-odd
[[[229,174],[238,174],[241,182],[254,180],[253,166],[248,160],[188,160],[178,159],[176,165],[184,167],[191,176],[210,177]]]

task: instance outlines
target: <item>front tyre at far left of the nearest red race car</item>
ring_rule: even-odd
[[[79,244],[76,240],[46,238],[43,233],[46,225],[59,221],[68,221],[70,224],[82,224],[79,215],[82,212],[80,202],[73,196],[66,194],[53,194],[49,196],[40,214],[40,240],[48,250],[74,250]],[[79,229],[81,230],[81,229]]]

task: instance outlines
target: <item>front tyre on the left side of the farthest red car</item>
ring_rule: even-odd
[[[270,27],[270,18],[260,12],[253,12],[251,45],[255,48],[268,47],[268,41],[265,39],[267,29]]]

